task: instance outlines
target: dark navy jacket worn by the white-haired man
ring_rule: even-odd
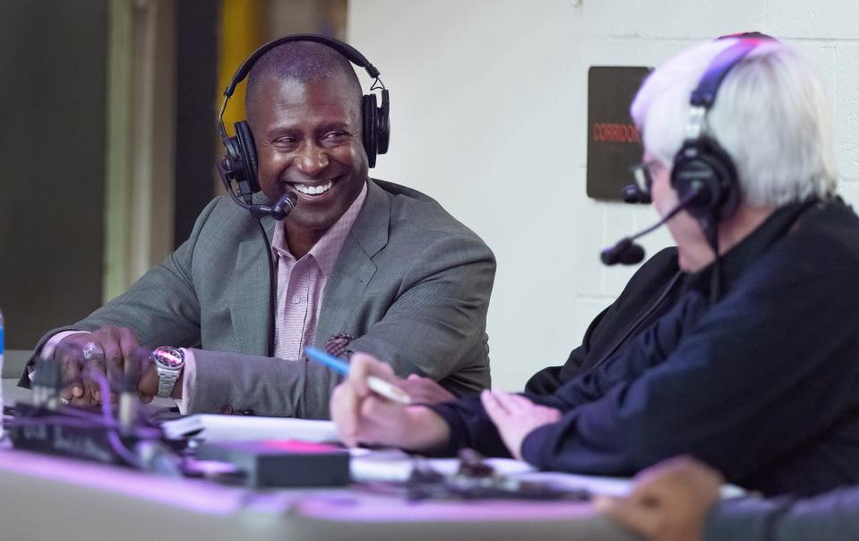
[[[859,483],[859,218],[840,200],[777,211],[605,363],[552,395],[540,468],[631,475],[678,454],[765,494]],[[479,402],[435,408],[451,447],[504,452]]]

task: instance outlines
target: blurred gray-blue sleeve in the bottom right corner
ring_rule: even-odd
[[[807,500],[741,498],[717,503],[704,528],[707,541],[859,539],[859,486]]]

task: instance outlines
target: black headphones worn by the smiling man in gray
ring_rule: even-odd
[[[251,127],[247,122],[241,120],[235,124],[236,135],[229,137],[227,129],[224,126],[224,110],[227,109],[227,102],[236,90],[236,86],[245,80],[245,77],[247,77],[247,74],[253,68],[253,64],[272,48],[290,41],[315,41],[322,43],[322,45],[331,47],[339,52],[342,56],[346,56],[352,64],[356,64],[366,70],[370,77],[374,79],[370,93],[365,94],[361,103],[361,116],[363,118],[361,138],[362,142],[364,142],[364,150],[367,153],[367,164],[369,167],[376,165],[377,154],[384,154],[388,151],[388,142],[391,139],[391,120],[389,118],[391,104],[388,98],[388,90],[385,89],[385,85],[379,79],[379,75],[381,74],[379,70],[373,64],[370,64],[370,61],[364,55],[359,53],[355,47],[343,43],[339,39],[327,38],[316,34],[292,34],[275,39],[253,51],[253,54],[248,56],[245,62],[238,67],[236,74],[233,75],[233,80],[229,82],[227,90],[224,90],[224,103],[220,107],[218,115],[220,140],[224,143],[224,147],[227,150],[224,158],[218,162],[218,172],[228,193],[232,195],[235,195],[232,189],[232,182],[236,182],[239,195],[244,200],[245,205],[251,205],[253,193],[260,191],[260,183],[257,179],[258,161],[256,147],[253,143],[253,133],[251,133]],[[377,106],[376,95],[373,93],[373,90],[382,91],[381,107]],[[236,198],[234,197],[234,199]],[[236,200],[236,202],[238,201]],[[241,203],[239,204],[241,205]],[[253,211],[253,209],[251,210]]]

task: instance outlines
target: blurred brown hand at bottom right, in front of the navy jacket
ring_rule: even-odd
[[[725,480],[688,457],[645,469],[625,498],[597,499],[597,509],[654,541],[698,541],[704,518]]]

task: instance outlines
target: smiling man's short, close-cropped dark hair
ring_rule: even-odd
[[[253,64],[247,77],[245,114],[253,117],[254,105],[259,99],[262,82],[269,78],[311,82],[342,75],[341,81],[354,95],[358,111],[361,110],[361,83],[346,56],[331,47],[315,41],[288,41],[271,48]]]

